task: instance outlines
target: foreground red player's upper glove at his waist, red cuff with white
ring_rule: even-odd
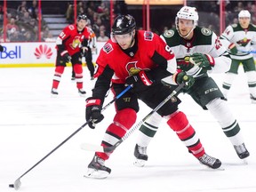
[[[152,76],[148,71],[140,71],[136,76],[129,76],[125,84],[132,85],[133,89],[131,92],[142,92],[153,84]]]

